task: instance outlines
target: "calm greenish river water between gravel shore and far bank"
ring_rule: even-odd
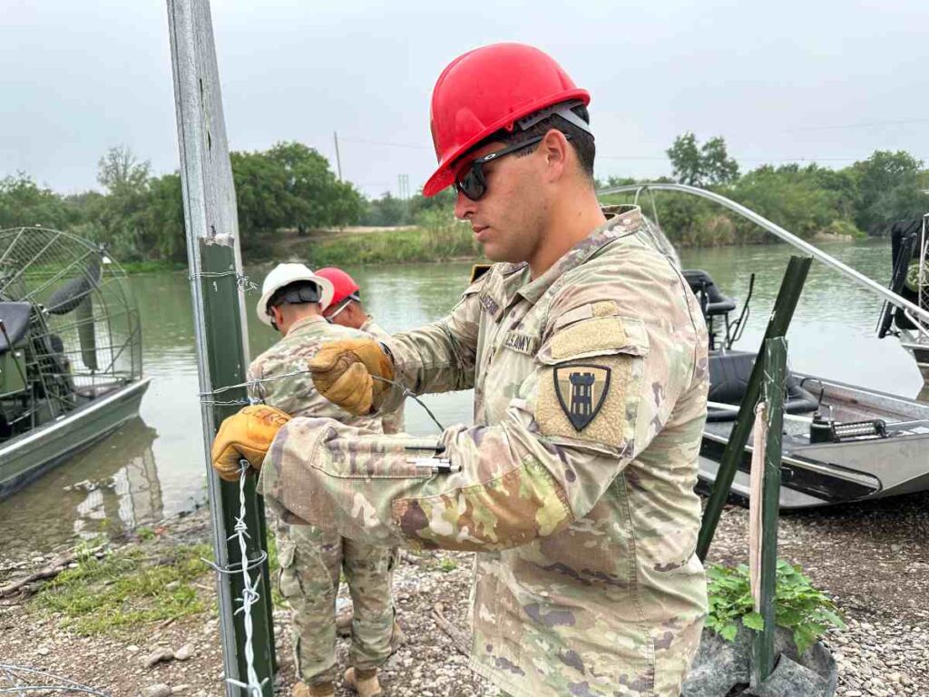
[[[823,249],[879,283],[890,276],[890,245],[882,241],[826,244]],[[687,269],[710,272],[720,290],[744,299],[756,273],[752,312],[739,347],[755,350],[792,248],[787,245],[684,250]],[[467,284],[471,265],[347,268],[366,307],[388,331],[442,317]],[[246,270],[260,286],[268,268]],[[46,551],[75,535],[120,533],[206,505],[206,466],[197,362],[185,272],[130,278],[142,322],[144,371],[151,378],[139,418],[66,465],[0,503],[0,550]],[[275,333],[255,319],[258,294],[246,296],[252,356]],[[795,370],[916,397],[922,380],[895,339],[874,334],[881,301],[814,262],[790,333]],[[425,398],[445,425],[471,418],[470,392]],[[407,430],[437,431],[423,409],[409,403]],[[75,486],[76,485],[76,486]]]

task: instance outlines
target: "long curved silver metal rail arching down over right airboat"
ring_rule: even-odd
[[[813,246],[812,244],[805,242],[804,240],[801,240],[796,235],[793,235],[787,230],[784,230],[779,225],[772,223],[766,217],[759,216],[757,213],[755,213],[749,208],[746,208],[744,205],[737,204],[735,201],[732,201],[731,199],[727,199],[726,196],[720,196],[718,193],[713,193],[713,191],[705,191],[703,189],[699,189],[698,187],[688,186],[687,184],[670,184],[670,183],[669,184],[664,184],[664,183],[651,184],[649,183],[649,184],[631,184],[629,186],[612,187],[610,189],[601,189],[600,191],[597,191],[596,194],[597,196],[606,196],[611,193],[633,193],[633,192],[638,192],[638,191],[646,191],[648,189],[652,191],[679,191],[681,193],[689,193],[693,196],[700,196],[700,198],[709,199],[710,201],[713,201],[713,203],[720,204],[728,208],[729,210],[738,213],[739,216],[744,217],[747,220],[751,220],[755,225],[758,225],[764,228],[771,234],[775,235],[776,237],[779,237],[784,242],[791,243],[793,246],[795,246],[797,249],[801,250],[802,252],[805,252],[806,254],[810,256],[815,256],[823,264],[826,264],[827,266],[830,266],[832,269],[837,270],[840,273],[843,273],[845,276],[850,278],[852,281],[854,281],[858,285],[862,285],[868,290],[870,290],[872,293],[878,296],[881,296],[884,300],[889,302],[891,305],[894,305],[897,308],[908,309],[916,317],[919,317],[920,319],[922,319],[923,322],[929,322],[929,309],[922,309],[920,307],[917,307],[913,303],[909,302],[909,300],[903,297],[897,296],[896,293],[894,293],[892,290],[890,290],[889,288],[884,288],[883,285],[868,278],[860,271],[854,270],[851,267],[844,265],[841,261],[834,258],[833,256],[826,254],[825,252]]]

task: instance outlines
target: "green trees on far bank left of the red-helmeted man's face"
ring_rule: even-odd
[[[300,234],[357,224],[365,209],[355,187],[339,181],[319,152],[298,142],[267,151],[231,152],[243,248],[275,230]],[[42,225],[107,245],[120,261],[186,260],[180,175],[153,175],[125,147],[98,162],[103,191],[61,195],[25,174],[0,179],[0,229]]]

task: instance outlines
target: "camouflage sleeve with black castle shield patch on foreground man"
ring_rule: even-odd
[[[503,418],[442,435],[461,472],[432,474],[401,437],[293,419],[266,460],[281,472],[281,504],[347,537],[464,550],[525,545],[582,518],[702,379],[700,329],[662,264],[658,278],[645,265],[564,284]],[[702,417],[699,403],[693,412]]]

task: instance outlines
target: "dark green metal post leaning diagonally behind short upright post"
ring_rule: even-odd
[[[791,257],[791,261],[787,265],[787,271],[784,273],[784,280],[780,283],[778,297],[774,301],[774,309],[771,310],[771,316],[767,322],[765,340],[787,334],[787,328],[790,326],[793,317],[793,310],[796,309],[797,302],[800,300],[800,294],[804,289],[806,274],[811,263],[813,263],[813,259],[809,256]],[[716,525],[719,524],[723,506],[726,505],[726,499],[732,489],[732,480],[736,477],[736,469],[739,467],[742,454],[745,452],[745,444],[752,432],[754,407],[758,403],[758,397],[761,394],[762,377],[765,374],[764,349],[765,345],[762,344],[762,351],[755,358],[752,375],[749,377],[749,384],[745,388],[745,396],[739,405],[739,415],[736,416],[736,423],[729,433],[726,450],[723,451],[719,468],[716,470],[713,492],[710,493],[710,499],[706,502],[706,508],[703,509],[700,537],[697,540],[697,555],[701,561],[706,559],[707,552],[710,551],[710,544],[713,542],[713,535],[716,533]]]

